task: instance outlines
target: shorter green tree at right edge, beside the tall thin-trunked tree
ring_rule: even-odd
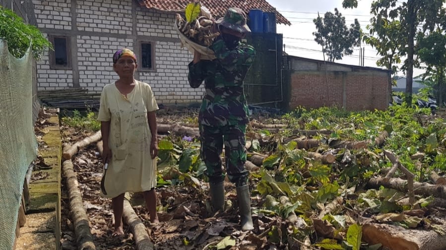
[[[440,105],[445,100],[445,71],[446,71],[446,35],[441,30],[425,35],[419,33],[417,36],[417,55],[426,63],[425,77],[434,81],[434,95]]]

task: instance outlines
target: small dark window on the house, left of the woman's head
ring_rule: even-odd
[[[51,68],[68,69],[71,67],[71,58],[69,53],[69,39],[67,37],[50,37],[53,43],[53,51],[50,51]]]

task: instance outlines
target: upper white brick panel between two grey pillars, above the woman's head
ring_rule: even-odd
[[[132,33],[131,0],[78,0],[79,31]]]

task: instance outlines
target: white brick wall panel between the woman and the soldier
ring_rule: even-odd
[[[180,43],[156,42],[156,72],[139,72],[140,81],[152,86],[160,103],[186,103],[201,100],[202,86],[193,89],[188,82],[188,64],[191,53],[180,48]]]

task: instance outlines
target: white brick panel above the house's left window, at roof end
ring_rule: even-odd
[[[71,30],[70,0],[33,0],[39,28]]]

